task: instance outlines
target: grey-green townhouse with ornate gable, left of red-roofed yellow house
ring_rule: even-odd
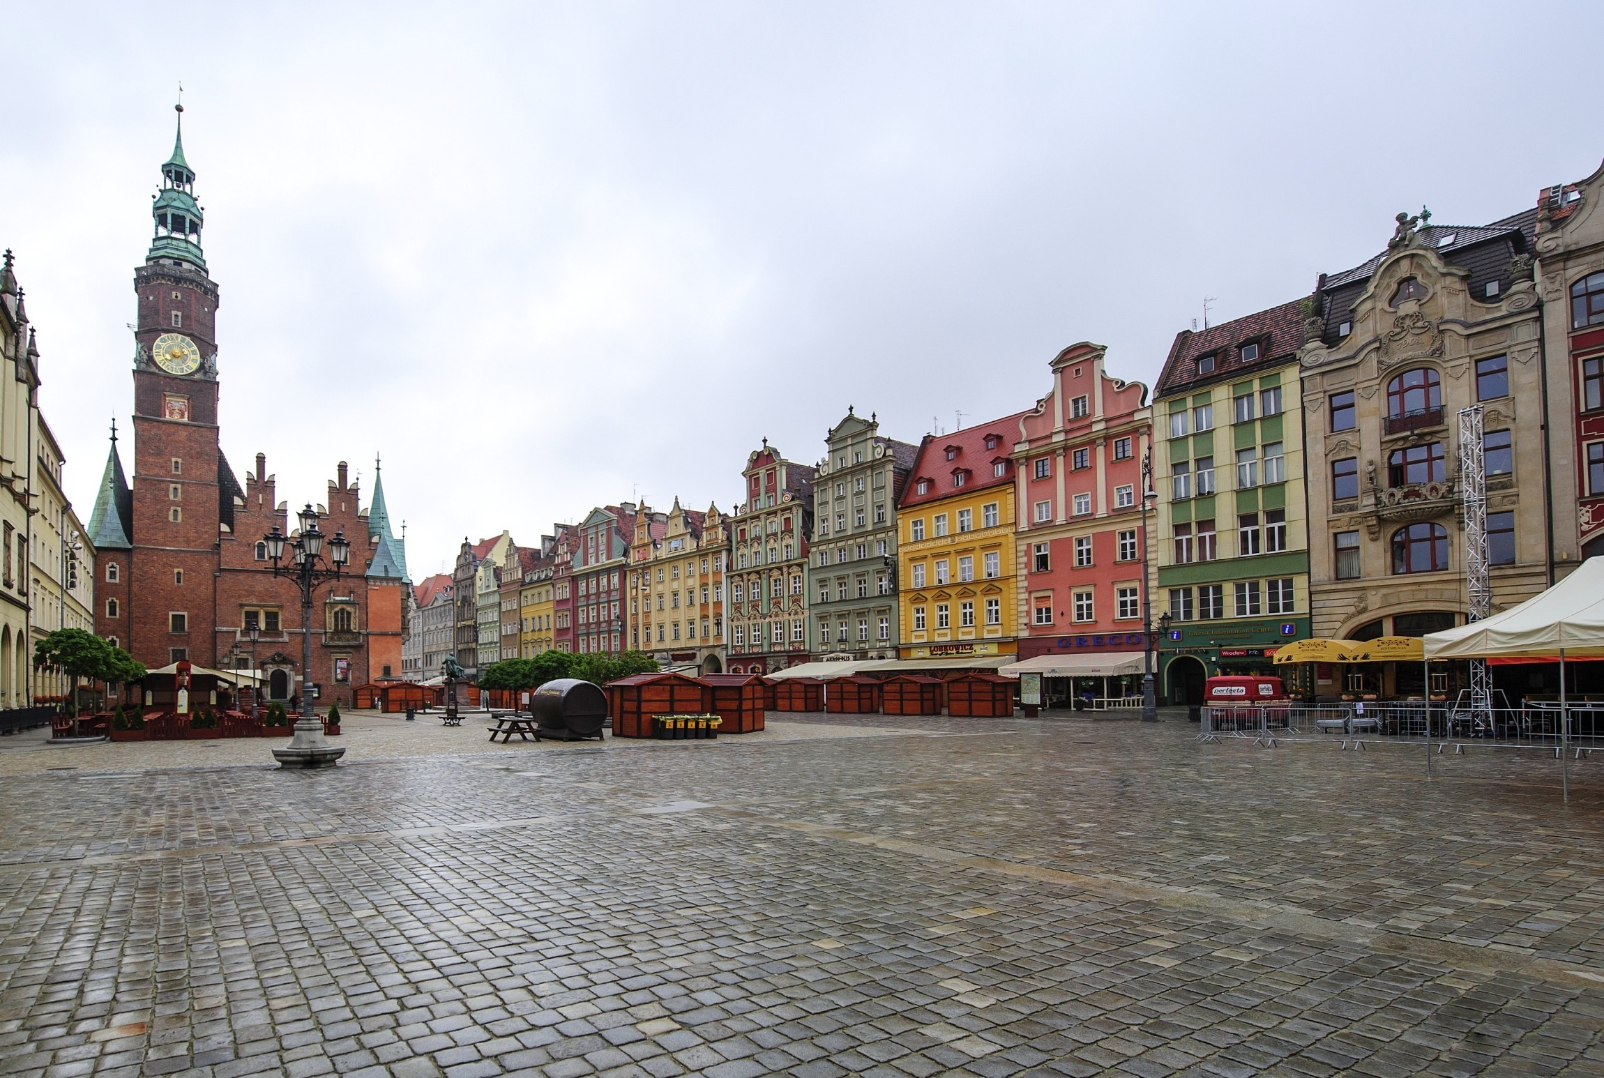
[[[919,446],[879,430],[876,414],[849,407],[815,467],[805,586],[815,659],[897,658],[897,499]]]

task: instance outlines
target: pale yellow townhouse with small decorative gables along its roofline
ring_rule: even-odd
[[[725,569],[730,531],[717,505],[706,512],[674,509],[635,526],[629,592],[640,611],[638,650],[664,667],[722,674],[727,664]],[[632,640],[637,638],[630,637]]]

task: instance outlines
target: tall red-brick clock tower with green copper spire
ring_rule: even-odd
[[[133,274],[133,491],[130,581],[135,658],[215,663],[212,578],[234,491],[218,440],[218,287],[200,249],[202,209],[184,160],[183,106],[151,204],[154,237]],[[226,500],[226,507],[225,507]]]

